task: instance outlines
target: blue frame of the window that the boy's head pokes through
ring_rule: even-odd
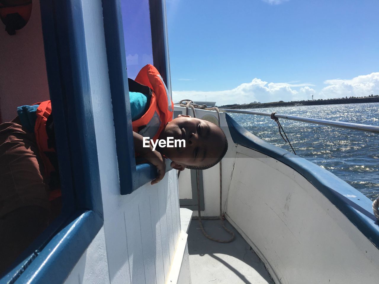
[[[151,164],[136,165],[135,162],[124,45],[124,33],[127,31],[122,29],[121,2],[103,0],[102,3],[120,193],[125,195],[152,181],[157,170]],[[165,6],[164,0],[149,1],[154,66],[171,94]]]

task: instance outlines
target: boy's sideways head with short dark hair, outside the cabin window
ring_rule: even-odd
[[[184,139],[186,147],[160,148],[160,153],[172,160],[171,167],[177,170],[205,170],[216,165],[224,157],[228,142],[224,131],[207,120],[189,115],[179,115],[169,122],[160,139],[174,137]]]

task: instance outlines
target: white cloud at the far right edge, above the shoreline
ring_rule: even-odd
[[[324,81],[329,86],[319,93],[320,98],[363,97],[379,94],[379,72],[360,75],[350,80],[332,79]]]

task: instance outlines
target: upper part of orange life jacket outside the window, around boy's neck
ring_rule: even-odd
[[[145,114],[132,122],[133,131],[156,140],[164,126],[172,120],[174,103],[158,70],[147,64],[135,81],[152,89],[150,105]]]

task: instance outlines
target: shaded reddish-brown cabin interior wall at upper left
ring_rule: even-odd
[[[49,100],[39,0],[30,19],[9,36],[0,21],[0,109],[3,122],[17,116],[17,106]]]

